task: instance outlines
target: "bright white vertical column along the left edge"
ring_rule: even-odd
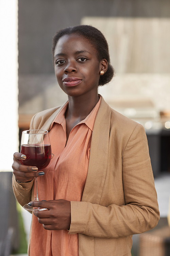
[[[18,151],[18,1],[0,0],[0,171]]]

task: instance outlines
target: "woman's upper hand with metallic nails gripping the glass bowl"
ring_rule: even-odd
[[[26,155],[23,155],[19,152],[14,153],[14,162],[12,165],[13,173],[15,175],[15,179],[19,182],[29,182],[35,176],[43,176],[44,172],[39,171],[35,166],[27,166],[22,165],[21,160],[26,159]]]

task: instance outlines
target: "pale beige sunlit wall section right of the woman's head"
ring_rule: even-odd
[[[106,100],[150,99],[158,112],[170,110],[170,18],[84,17],[82,24],[109,42],[116,76],[100,88]]]

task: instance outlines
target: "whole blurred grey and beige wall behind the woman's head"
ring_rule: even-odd
[[[169,108],[169,18],[169,0],[19,0],[19,113],[34,114],[67,99],[53,72],[52,36],[81,23],[109,34],[116,76],[101,89],[106,98],[149,97],[158,108]],[[156,94],[166,100],[157,103]]]

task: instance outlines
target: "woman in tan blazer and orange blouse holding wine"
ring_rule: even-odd
[[[44,172],[14,154],[13,188],[34,212],[29,255],[131,255],[132,235],[154,228],[157,196],[143,127],[112,110],[98,86],[113,77],[108,45],[91,26],[53,38],[56,79],[68,95],[61,107],[36,114],[30,129],[49,130],[52,152]],[[33,202],[33,177],[39,199]]]

